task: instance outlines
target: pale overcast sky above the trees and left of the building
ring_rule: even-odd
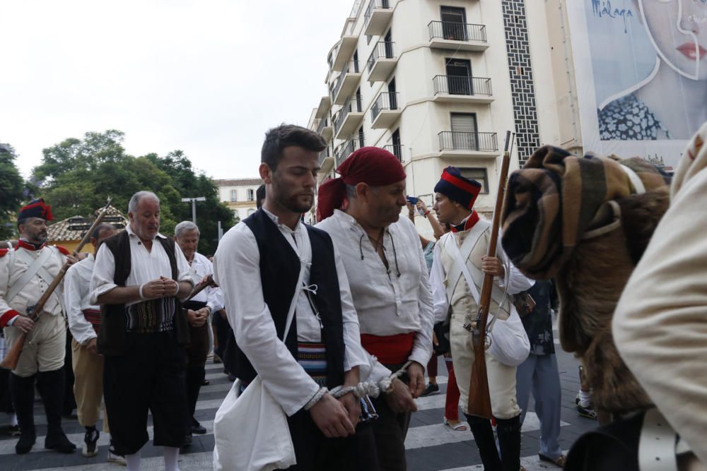
[[[25,177],[42,148],[119,129],[132,155],[181,149],[256,177],[264,131],[307,125],[354,0],[6,1],[0,143]]]

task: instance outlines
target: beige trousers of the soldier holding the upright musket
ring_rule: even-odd
[[[460,407],[462,412],[469,412],[469,383],[474,365],[474,345],[472,334],[464,329],[464,313],[453,312],[450,324],[450,344],[452,362],[459,386]],[[520,414],[518,400],[515,398],[515,366],[508,366],[491,357],[486,351],[486,374],[489,376],[491,411],[497,419],[511,419]]]

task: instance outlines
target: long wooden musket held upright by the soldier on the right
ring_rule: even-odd
[[[506,194],[506,179],[508,178],[508,166],[510,165],[510,150],[515,133],[511,138],[510,131],[506,131],[506,147],[503,150],[503,160],[501,161],[501,174],[498,176],[498,193],[496,194],[496,208],[493,210],[493,222],[491,224],[491,237],[489,238],[489,249],[486,256],[496,256],[496,244],[498,243],[498,227],[501,223],[501,210],[503,210],[503,199]],[[484,273],[484,283],[481,285],[481,297],[479,298],[479,311],[476,321],[464,324],[464,328],[470,330],[473,335],[474,345],[474,365],[472,366],[472,378],[469,381],[469,403],[467,410],[469,415],[478,417],[493,418],[491,412],[491,394],[489,393],[489,376],[486,373],[486,323],[489,320],[489,305],[491,304],[491,289],[493,288],[493,275]]]

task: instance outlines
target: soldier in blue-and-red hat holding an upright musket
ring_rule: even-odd
[[[461,393],[460,405],[472,429],[484,470],[518,471],[523,469],[520,467],[520,408],[515,393],[516,367],[510,365],[508,359],[494,356],[491,350],[486,350],[491,411],[496,419],[500,456],[491,421],[467,414],[474,347],[472,333],[464,328],[464,323],[475,318],[479,311],[477,299],[484,273],[494,276],[489,306],[489,314],[497,317],[491,321],[489,316],[489,321],[493,323],[505,322],[511,316],[517,318],[518,313],[508,294],[532,287],[532,281],[508,261],[500,245],[495,257],[486,255],[491,223],[481,220],[473,209],[480,190],[478,181],[464,178],[456,167],[447,167],[435,186],[433,208],[439,222],[451,225],[452,232],[441,237],[435,246],[430,281],[435,315],[444,318],[450,326],[452,362]],[[474,286],[467,284],[460,260],[466,264]]]

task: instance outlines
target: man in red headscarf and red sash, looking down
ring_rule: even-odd
[[[337,168],[340,178],[320,186],[318,229],[341,254],[370,354],[368,381],[379,383],[406,364],[373,399],[373,422],[382,470],[405,470],[405,435],[414,398],[425,388],[432,352],[433,309],[427,265],[417,231],[400,209],[405,172],[395,155],[375,147],[356,150]],[[361,368],[362,378],[369,373]],[[385,383],[384,383],[385,384]]]

